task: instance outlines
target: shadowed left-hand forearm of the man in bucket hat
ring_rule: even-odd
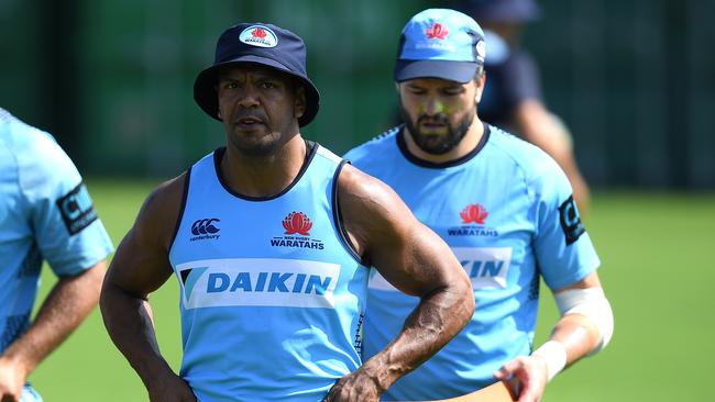
[[[146,300],[106,282],[100,308],[109,336],[147,389],[153,381],[174,375],[160,353]]]

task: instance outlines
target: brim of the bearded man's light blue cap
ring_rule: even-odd
[[[448,60],[397,60],[395,81],[402,82],[417,78],[440,78],[466,83],[474,79],[479,63]]]

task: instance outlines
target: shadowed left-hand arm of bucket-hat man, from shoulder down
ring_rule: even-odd
[[[150,293],[172,276],[168,247],[184,181],[184,176],[168,181],[146,199],[117,249],[100,299],[112,342],[140,376],[152,401],[195,400],[160,353],[147,303]]]

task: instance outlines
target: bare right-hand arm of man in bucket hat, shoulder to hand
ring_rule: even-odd
[[[351,166],[341,172],[339,186],[344,225],[356,250],[397,289],[420,298],[400,334],[328,398],[376,401],[459,333],[474,312],[474,294],[449,247],[392,189]]]

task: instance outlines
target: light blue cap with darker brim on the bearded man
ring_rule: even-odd
[[[469,15],[449,9],[428,9],[403,29],[395,81],[441,78],[469,82],[484,65],[482,27]]]

